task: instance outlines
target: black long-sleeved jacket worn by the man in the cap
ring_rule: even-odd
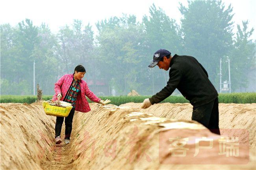
[[[175,88],[195,107],[207,104],[218,97],[206,70],[194,57],[175,54],[170,62],[169,77],[167,86],[149,99],[151,104],[163,101]]]

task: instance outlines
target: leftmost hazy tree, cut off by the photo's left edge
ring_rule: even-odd
[[[19,44],[17,44],[17,28],[3,24],[1,29],[1,95],[29,95],[30,90],[27,80],[17,80],[20,68]],[[19,78],[20,79],[20,78]]]

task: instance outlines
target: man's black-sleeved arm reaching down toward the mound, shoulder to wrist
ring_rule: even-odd
[[[180,83],[180,80],[182,78],[182,74],[178,69],[172,69],[169,72],[169,81],[167,82],[167,85],[165,88],[163,88],[161,91],[153,95],[151,98],[149,98],[149,101],[151,104],[159,103],[169,97],[173,91],[176,89],[178,84]]]

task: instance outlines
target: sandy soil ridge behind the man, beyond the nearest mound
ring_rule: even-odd
[[[139,103],[126,103],[120,106],[139,108]],[[191,120],[193,106],[189,103],[159,103],[145,109],[158,117],[168,119]],[[256,103],[252,104],[219,104],[220,129],[246,129],[250,132],[250,147],[256,147]]]

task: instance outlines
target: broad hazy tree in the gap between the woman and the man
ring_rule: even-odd
[[[143,35],[141,26],[134,15],[111,17],[96,24],[97,57],[101,64],[100,76],[108,79],[110,86],[126,95],[131,89],[137,90],[142,55],[139,49]]]

